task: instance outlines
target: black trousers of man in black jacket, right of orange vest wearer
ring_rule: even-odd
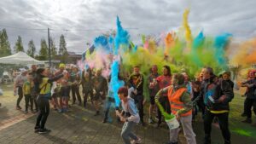
[[[205,144],[211,143],[212,120],[214,117],[218,118],[219,128],[224,137],[224,144],[230,144],[229,112],[214,114],[208,110],[206,110],[204,118]]]

